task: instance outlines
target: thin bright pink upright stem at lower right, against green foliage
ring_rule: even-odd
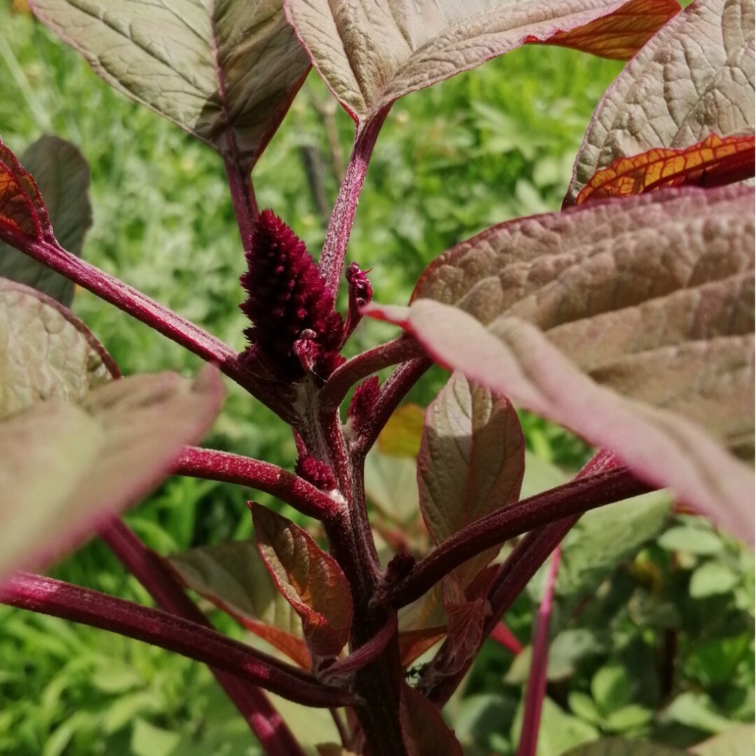
[[[556,572],[559,570],[559,547],[551,557],[551,567],[546,579],[546,590],[538,618],[535,622],[533,638],[533,660],[528,675],[528,690],[525,693],[525,714],[522,717],[522,733],[520,735],[517,756],[535,756],[538,745],[538,729],[541,727],[541,711],[544,708],[546,695],[546,673],[549,661],[549,622],[554,600],[554,586]]]

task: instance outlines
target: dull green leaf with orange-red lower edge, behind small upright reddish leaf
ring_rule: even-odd
[[[227,541],[169,558],[181,582],[293,659],[311,666],[302,622],[281,596],[254,541]]]

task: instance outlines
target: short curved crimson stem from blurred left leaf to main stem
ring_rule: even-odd
[[[228,451],[184,447],[171,472],[173,475],[235,483],[265,491],[316,519],[333,517],[341,509],[327,494],[293,472]]]

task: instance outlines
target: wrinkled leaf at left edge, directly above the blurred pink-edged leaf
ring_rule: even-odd
[[[40,399],[78,401],[118,374],[72,312],[4,278],[0,278],[0,342],[0,417]]]

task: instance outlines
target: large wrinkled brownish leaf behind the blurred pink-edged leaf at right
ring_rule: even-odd
[[[598,383],[747,456],[753,197],[679,188],[494,226],[433,262],[413,300],[530,321]]]

